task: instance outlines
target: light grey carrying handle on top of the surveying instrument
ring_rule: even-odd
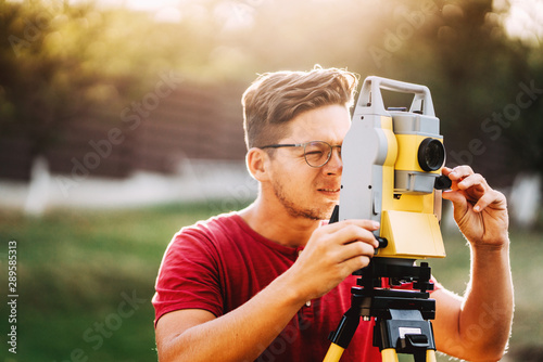
[[[357,107],[369,108],[367,111],[372,114],[388,114],[382,102],[381,89],[415,94],[409,112],[422,111],[422,114],[435,117],[432,96],[428,87],[375,76],[367,77],[364,80]]]

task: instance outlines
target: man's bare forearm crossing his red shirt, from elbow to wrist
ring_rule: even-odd
[[[305,302],[288,273],[243,306],[188,328],[160,349],[161,361],[253,361]]]

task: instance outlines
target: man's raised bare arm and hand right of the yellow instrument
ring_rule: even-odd
[[[440,289],[433,323],[439,350],[469,361],[497,361],[509,338],[514,297],[505,196],[468,166],[443,169],[453,181],[443,198],[471,248],[471,277],[464,298]]]

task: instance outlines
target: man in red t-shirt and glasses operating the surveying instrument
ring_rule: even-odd
[[[321,222],[339,202],[356,80],[334,68],[280,72],[245,91],[247,165],[258,195],[174,236],[153,298],[161,361],[323,360],[350,307],[351,274],[377,247],[372,221]],[[443,198],[471,246],[471,281],[464,298],[432,293],[437,348],[496,361],[513,315],[506,201],[467,166],[443,173],[453,181]],[[371,327],[361,322],[342,361],[380,360]]]

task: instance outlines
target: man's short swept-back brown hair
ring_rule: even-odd
[[[325,105],[351,106],[358,76],[315,66],[310,72],[261,75],[243,93],[243,129],[248,148],[276,143],[285,124],[303,112]]]

